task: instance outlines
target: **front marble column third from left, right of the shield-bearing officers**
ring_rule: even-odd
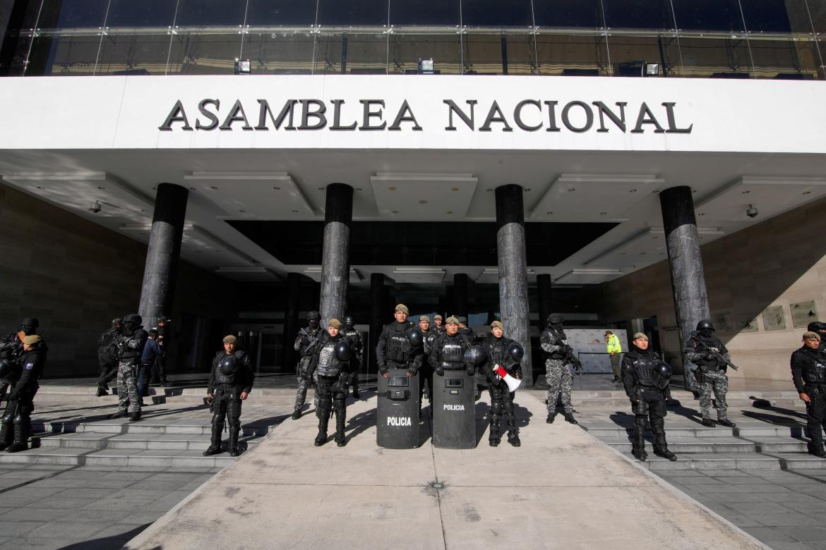
[[[522,188],[496,187],[496,254],[499,261],[499,311],[507,337],[525,348],[522,376],[525,388],[534,385],[530,357],[528,263],[525,260],[525,206]]]

